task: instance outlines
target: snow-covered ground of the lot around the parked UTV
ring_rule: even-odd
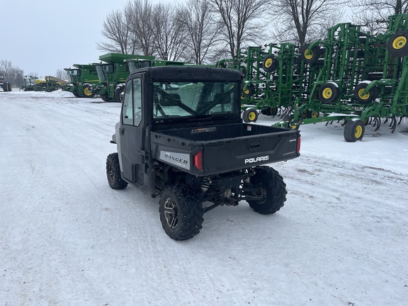
[[[157,198],[109,188],[102,102],[0,93],[0,305],[408,305],[406,120],[355,143],[302,125],[301,157],[271,164],[284,208],[216,208],[176,242]]]

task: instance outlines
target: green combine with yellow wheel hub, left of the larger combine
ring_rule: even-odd
[[[77,98],[94,98],[94,86],[98,85],[98,74],[93,64],[74,64],[76,68],[65,68],[69,84],[62,86],[63,91],[69,91]]]

